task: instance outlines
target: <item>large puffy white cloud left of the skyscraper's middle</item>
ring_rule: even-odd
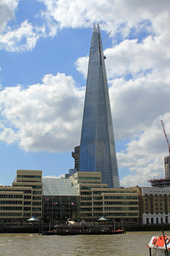
[[[0,92],[0,140],[25,151],[60,152],[80,143],[84,88],[71,76],[48,74],[42,84]]]

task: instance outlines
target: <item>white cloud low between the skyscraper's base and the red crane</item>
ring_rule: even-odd
[[[170,118],[170,113],[164,115],[164,120],[167,118]],[[138,139],[133,139],[126,146],[125,152],[117,153],[118,163],[119,167],[128,167],[132,174],[122,178],[122,186],[150,186],[147,181],[154,176],[165,177],[164,157],[168,147],[160,118],[156,118],[150,128],[146,127]]]

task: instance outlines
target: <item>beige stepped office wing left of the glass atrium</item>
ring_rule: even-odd
[[[42,218],[42,171],[17,170],[12,186],[0,186],[0,223]]]

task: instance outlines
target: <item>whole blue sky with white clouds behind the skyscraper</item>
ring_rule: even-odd
[[[93,22],[106,55],[122,187],[165,177],[170,1],[0,0],[0,184],[61,177],[80,145]]]

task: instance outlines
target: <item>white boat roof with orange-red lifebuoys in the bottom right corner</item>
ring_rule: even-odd
[[[158,248],[158,249],[166,249],[165,242],[167,244],[167,249],[170,250],[170,236],[152,236],[151,241],[149,242],[147,247],[150,248]]]

